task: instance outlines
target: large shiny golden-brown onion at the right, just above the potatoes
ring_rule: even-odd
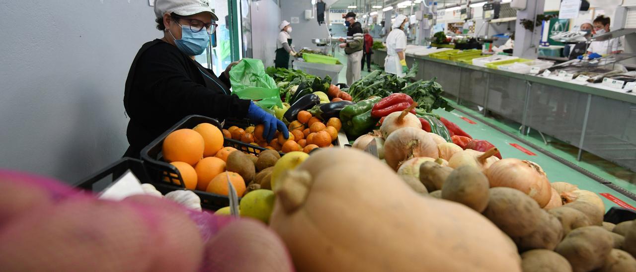
[[[532,161],[499,160],[485,170],[490,187],[510,187],[528,194],[541,208],[548,205],[552,187],[543,169]]]

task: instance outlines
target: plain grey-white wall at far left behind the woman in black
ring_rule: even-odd
[[[120,158],[128,69],[161,34],[148,1],[0,6],[0,168],[74,182]]]

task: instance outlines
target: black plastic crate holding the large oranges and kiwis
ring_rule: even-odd
[[[182,128],[194,128],[200,123],[211,123],[221,129],[221,123],[219,123],[216,119],[200,115],[186,116],[186,118],[181,119],[181,121],[179,121],[176,125],[172,126],[172,128],[166,132],[163,132],[162,135],[142,149],[141,160],[144,161],[148,177],[152,180],[150,183],[152,183],[161,193],[165,194],[170,191],[185,189],[183,178],[181,177],[179,170],[170,163],[163,161],[163,139],[175,130],[180,130]],[[224,138],[223,146],[234,147],[237,150],[254,155],[266,150],[266,148],[263,147],[252,146],[251,144],[245,144],[244,142],[227,138]],[[201,198],[201,207],[207,210],[218,210],[219,208],[230,205],[228,196],[198,190],[193,192]]]

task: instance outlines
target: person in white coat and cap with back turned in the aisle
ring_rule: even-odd
[[[408,71],[404,50],[406,49],[406,33],[408,17],[397,15],[392,25],[392,30],[387,36],[387,57],[384,59],[384,71],[403,77]]]

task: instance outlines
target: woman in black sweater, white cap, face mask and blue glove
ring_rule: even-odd
[[[126,80],[124,107],[130,117],[130,147],[125,156],[139,158],[143,147],[190,114],[249,118],[265,125],[263,137],[268,142],[276,130],[289,136],[282,121],[251,100],[232,95],[231,65],[217,77],[194,60],[216,30],[218,17],[207,0],[156,0],[155,15],[163,38],[141,47]]]

